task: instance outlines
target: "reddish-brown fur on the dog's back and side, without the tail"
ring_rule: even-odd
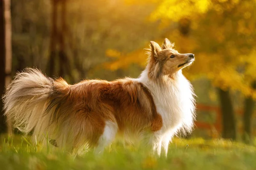
[[[67,85],[63,79],[57,79],[53,84],[47,106],[48,112],[55,108],[52,122],[75,119],[73,126],[78,125],[77,129],[86,125],[81,133],[90,146],[97,144],[108,120],[117,123],[119,133],[127,127],[134,131],[157,131],[162,127],[152,96],[140,82],[127,78],[113,82],[85,80]]]

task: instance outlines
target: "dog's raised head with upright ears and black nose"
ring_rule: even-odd
[[[174,44],[167,38],[162,47],[157,42],[150,42],[149,74],[158,78],[161,75],[172,75],[190,65],[195,60],[194,54],[180,54],[173,49]]]

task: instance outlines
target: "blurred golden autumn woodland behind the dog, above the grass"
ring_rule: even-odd
[[[2,0],[0,95],[26,67],[70,84],[138,77],[144,48],[168,38],[180,53],[195,54],[183,71],[198,96],[189,137],[250,143],[256,135],[255,9],[255,0]],[[0,132],[12,133],[4,116]]]

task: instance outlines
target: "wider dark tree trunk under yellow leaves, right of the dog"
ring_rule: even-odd
[[[221,113],[222,113],[222,137],[224,139],[236,140],[236,119],[230,91],[218,88]]]

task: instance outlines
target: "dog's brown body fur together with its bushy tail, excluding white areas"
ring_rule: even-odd
[[[36,103],[37,96],[34,92],[20,96],[23,92],[34,90],[33,85],[29,87],[24,84],[24,87],[18,89],[19,95],[13,93],[17,86],[29,83],[22,80],[35,78],[44,79],[47,84],[47,87],[38,84],[36,92],[49,88],[43,101]],[[113,82],[84,80],[68,85],[64,79],[53,80],[37,69],[27,68],[17,74],[3,99],[6,115],[14,120],[15,127],[24,133],[29,133],[34,128],[34,135],[38,139],[45,141],[44,137],[47,135],[56,140],[58,146],[75,152],[84,145],[97,146],[106,121],[116,123],[119,133],[126,129],[131,133],[143,130],[154,132],[162,127],[162,118],[156,111],[148,88],[129,78]],[[30,107],[33,108],[29,111],[40,114],[26,113]],[[17,109],[24,114],[16,113]],[[34,122],[32,125],[31,121]],[[20,122],[24,126],[20,126]]]

